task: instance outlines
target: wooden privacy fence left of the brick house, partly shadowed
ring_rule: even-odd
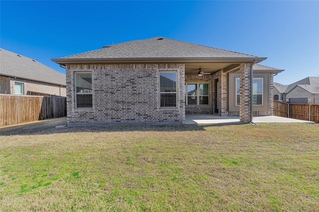
[[[0,95],[0,126],[66,116],[66,98]]]

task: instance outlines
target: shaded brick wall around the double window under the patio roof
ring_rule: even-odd
[[[209,102],[208,105],[186,105],[186,114],[212,114],[213,104],[213,82],[211,75],[186,75],[185,83],[209,83]]]

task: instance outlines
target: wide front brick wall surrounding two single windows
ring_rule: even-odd
[[[74,72],[92,71],[92,109],[75,108]],[[160,108],[159,71],[177,72],[177,107]],[[68,126],[185,121],[182,64],[66,65]]]

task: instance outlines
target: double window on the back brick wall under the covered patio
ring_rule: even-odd
[[[185,86],[186,105],[208,105],[208,83],[187,83]]]

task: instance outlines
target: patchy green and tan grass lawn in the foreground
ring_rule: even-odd
[[[46,128],[0,137],[0,211],[317,211],[319,125]]]

